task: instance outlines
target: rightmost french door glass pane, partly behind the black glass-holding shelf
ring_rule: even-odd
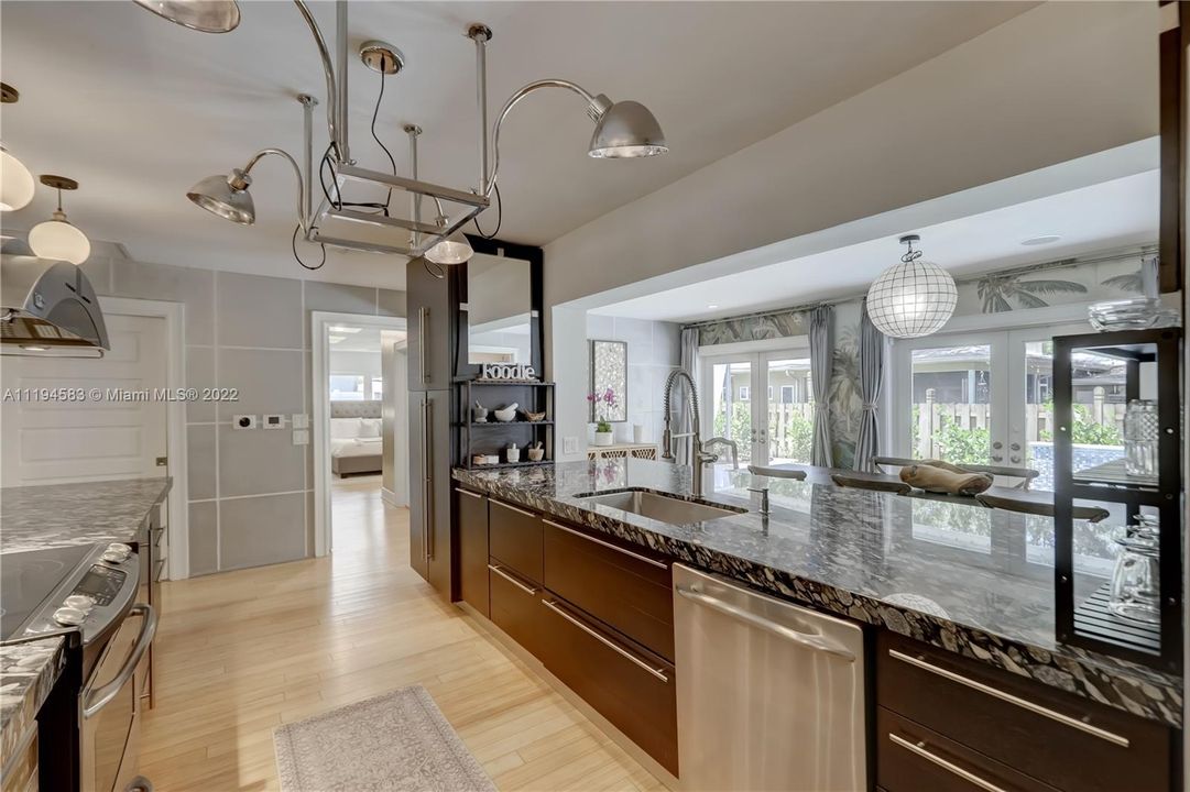
[[[1084,470],[1123,455],[1125,363],[1077,351],[1072,357],[1073,469]],[[1053,490],[1053,342],[1025,344],[1026,464],[1038,471],[1031,489]]]

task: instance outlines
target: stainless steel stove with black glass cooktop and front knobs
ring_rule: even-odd
[[[137,773],[143,662],[157,616],[136,603],[140,560],[125,545],[56,547],[0,554],[0,640],[25,641],[64,630],[81,636],[77,719],[42,731],[42,766],[77,766],[69,785],[82,792],[150,791]],[[71,728],[73,727],[73,728]],[[65,731],[67,734],[62,734]],[[69,736],[68,736],[69,735]],[[50,748],[52,754],[45,754]],[[61,786],[56,784],[55,788]]]

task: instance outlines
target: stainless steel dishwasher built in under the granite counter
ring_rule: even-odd
[[[859,626],[674,565],[685,790],[866,788]]]

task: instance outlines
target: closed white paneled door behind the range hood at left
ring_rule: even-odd
[[[152,394],[165,386],[165,320],[105,320],[112,350],[102,358],[2,359],[4,486],[165,474],[165,402]],[[42,389],[84,396],[25,398]]]

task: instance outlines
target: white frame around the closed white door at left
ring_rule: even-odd
[[[178,392],[186,388],[186,306],[164,300],[100,296],[99,307],[105,314],[118,316],[150,316],[165,320],[165,388]],[[170,580],[190,577],[190,521],[188,451],[186,447],[186,401],[165,403],[165,469],[173,486],[165,498],[169,517],[169,555],[165,570]]]

